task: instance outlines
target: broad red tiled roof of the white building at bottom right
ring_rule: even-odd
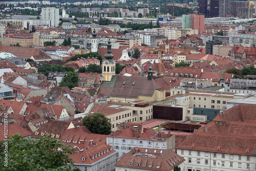
[[[255,110],[256,105],[239,104],[223,111],[177,148],[253,156],[256,144]]]

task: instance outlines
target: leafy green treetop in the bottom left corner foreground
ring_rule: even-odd
[[[72,148],[61,144],[60,140],[48,137],[34,140],[15,134],[8,140],[8,148],[8,167],[4,166],[3,160],[0,163],[3,171],[72,170],[70,164],[73,161],[69,158]],[[0,158],[3,159],[5,154],[0,153]]]

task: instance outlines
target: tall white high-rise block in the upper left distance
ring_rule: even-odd
[[[59,9],[54,7],[42,8],[42,19],[50,19],[50,27],[58,27],[59,24]]]

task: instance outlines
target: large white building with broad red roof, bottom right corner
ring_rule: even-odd
[[[200,127],[177,147],[185,171],[256,170],[256,105],[239,104]]]

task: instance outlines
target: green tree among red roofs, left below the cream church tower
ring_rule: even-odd
[[[64,77],[59,83],[59,87],[68,86],[70,89],[77,86],[78,75],[75,72],[68,72],[66,77]]]

